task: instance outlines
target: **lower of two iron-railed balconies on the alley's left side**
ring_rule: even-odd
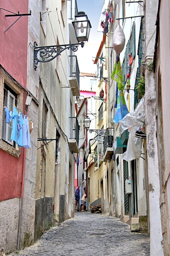
[[[73,153],[79,153],[79,124],[76,117],[70,118],[69,146]]]

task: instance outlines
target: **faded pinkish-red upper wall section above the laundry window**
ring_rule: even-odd
[[[14,13],[28,13],[28,0],[0,0],[0,8]],[[11,26],[18,17],[5,16],[9,14],[12,13],[0,9],[0,64],[26,87],[28,16],[21,17]],[[5,32],[6,29],[8,31]]]

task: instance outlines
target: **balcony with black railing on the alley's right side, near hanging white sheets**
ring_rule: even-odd
[[[104,148],[104,162],[106,162],[107,160],[111,160],[112,156],[113,156],[113,135],[111,135],[113,132],[113,128],[111,128],[111,130],[109,130],[106,134],[104,143],[103,143],[103,148]]]

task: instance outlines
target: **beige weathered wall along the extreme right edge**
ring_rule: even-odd
[[[170,90],[169,72],[167,67],[170,59],[170,1],[160,2],[159,10],[159,39],[156,59],[156,82],[158,102],[158,144],[161,195],[161,224],[164,245],[164,255],[170,255]]]

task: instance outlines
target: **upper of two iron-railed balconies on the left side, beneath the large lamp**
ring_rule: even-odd
[[[77,62],[77,56],[69,55],[70,57],[70,76],[69,82],[73,96],[80,96],[79,91],[79,65]]]

